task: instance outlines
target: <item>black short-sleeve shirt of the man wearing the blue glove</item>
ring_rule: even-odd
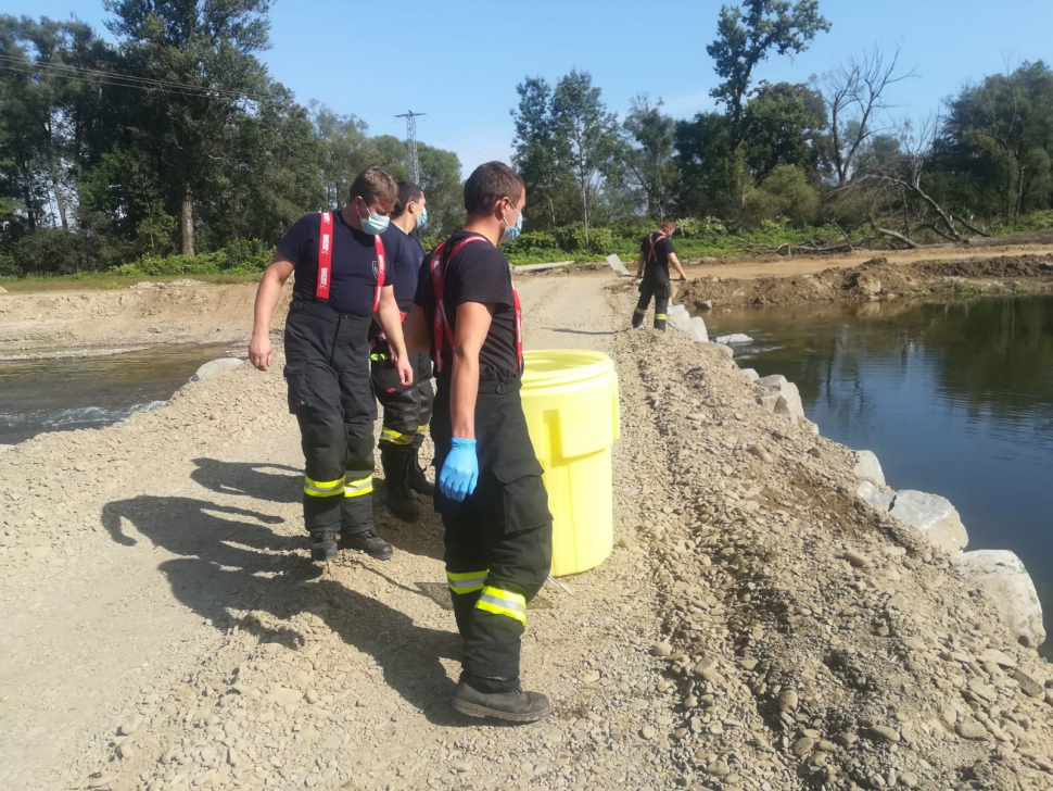
[[[446,241],[452,251],[468,237],[479,236],[459,230]],[[509,378],[519,374],[519,346],[516,332],[516,292],[512,289],[508,259],[485,237],[461,248],[446,261],[443,276],[443,304],[451,329],[457,331],[457,307],[466,302],[494,305],[490,332],[479,352],[479,373],[482,378]],[[430,261],[430,259],[429,259]],[[424,309],[429,331],[434,331],[435,292],[428,266],[420,268],[417,296],[414,302]],[[434,343],[434,338],[432,338]],[[451,369],[452,350],[443,343],[444,368]]]

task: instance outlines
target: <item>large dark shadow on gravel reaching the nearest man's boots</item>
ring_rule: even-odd
[[[280,517],[179,497],[138,497],[104,506],[102,524],[113,540],[135,545],[138,539],[126,522],[155,547],[179,555],[157,568],[175,598],[216,629],[237,626],[261,642],[297,650],[304,638],[290,622],[313,613],[345,643],[372,656],[388,685],[430,723],[471,724],[449,707],[454,681],[440,662],[459,658],[456,632],[417,626],[405,613],[334,579],[319,579],[320,567],[297,552],[306,549],[306,536],[281,536],[268,527]],[[355,563],[378,562],[363,556]],[[272,626],[240,615],[253,612],[284,623]],[[452,615],[449,623],[453,628]]]

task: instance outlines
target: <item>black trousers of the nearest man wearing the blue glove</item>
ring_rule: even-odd
[[[439,378],[431,425],[441,470],[453,436],[445,375]],[[519,686],[526,604],[545,583],[553,561],[553,516],[518,378],[480,381],[475,454],[475,491],[458,503],[436,486],[435,511],[445,528],[446,578],[465,641],[462,668],[469,680],[499,692]]]

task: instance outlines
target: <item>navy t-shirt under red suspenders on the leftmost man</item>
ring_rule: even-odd
[[[296,285],[292,291],[295,299],[315,299],[320,235],[321,215],[308,214],[297,219],[278,242],[278,252],[296,267]],[[384,279],[384,285],[389,285],[386,276]],[[329,304],[341,313],[370,316],[373,312],[376,290],[376,238],[355,230],[347,225],[340,212],[333,212]]]

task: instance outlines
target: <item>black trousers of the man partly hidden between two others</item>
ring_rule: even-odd
[[[410,352],[409,362],[414,366],[414,384],[403,387],[398,381],[398,371],[386,351],[373,354],[373,392],[384,407],[381,450],[385,447],[413,447],[418,436],[423,437],[431,420],[431,407],[435,400],[431,385],[431,359],[420,352]]]

